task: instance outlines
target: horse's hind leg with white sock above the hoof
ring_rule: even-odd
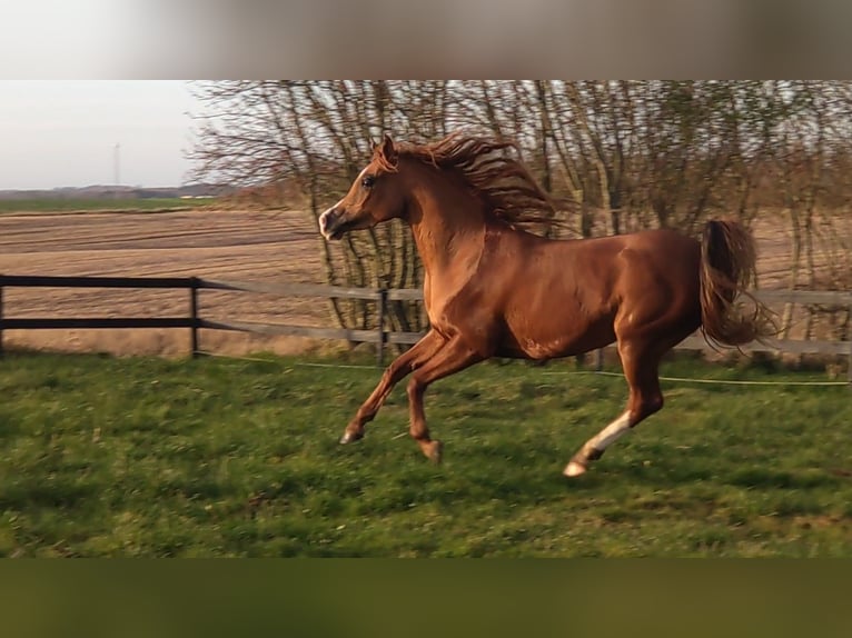
[[[627,409],[617,419],[588,439],[575,453],[563,473],[577,477],[588,469],[591,461],[600,459],[606,448],[624,436],[631,428],[657,412],[663,407],[663,393],[660,390],[660,357],[635,356],[632,348],[618,345],[624,376],[630,386]]]

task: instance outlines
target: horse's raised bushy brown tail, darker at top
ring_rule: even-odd
[[[776,332],[769,308],[746,290],[755,279],[755,261],[754,238],[742,223],[724,219],[704,226],[701,323],[710,343],[742,346]]]

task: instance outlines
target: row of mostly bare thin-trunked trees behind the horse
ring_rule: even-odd
[[[835,231],[852,215],[850,82],[279,80],[192,91],[202,104],[196,177],[281,187],[315,220],[383,133],[426,141],[464,129],[516,141],[578,237],[774,215],[792,238],[791,288],[852,286],[852,247]],[[317,246],[329,283],[422,283],[402,223]],[[390,310],[395,328],[423,327],[410,306]],[[370,327],[364,305],[334,312],[343,326]]]

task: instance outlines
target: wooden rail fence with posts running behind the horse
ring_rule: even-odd
[[[52,287],[52,288],[166,288],[187,290],[188,312],[180,317],[88,317],[88,318],[9,318],[3,305],[3,289],[7,287]],[[246,292],[275,293],[283,297],[314,297],[337,299],[366,299],[376,302],[377,321],[373,330],[348,330],[343,328],[316,328],[286,323],[261,323],[255,321],[212,321],[199,316],[200,290],[234,290]],[[852,307],[852,291],[806,291],[773,290],[761,291],[759,298],[769,303],[803,303],[845,308]],[[32,277],[0,275],[0,353],[4,330],[38,330],[49,328],[187,328],[192,356],[201,353],[200,329],[239,330],[262,335],[289,335],[316,339],[339,339],[376,345],[377,363],[384,363],[387,345],[410,345],[419,332],[396,332],[386,329],[388,301],[422,300],[420,290],[386,290],[375,288],[345,288],[305,283],[259,283],[240,281],[215,281],[198,277]],[[676,348],[703,350],[707,343],[693,335]],[[765,343],[753,342],[744,351],[790,352],[795,355],[833,355],[849,358],[849,380],[852,382],[852,340],[795,340],[769,339]]]

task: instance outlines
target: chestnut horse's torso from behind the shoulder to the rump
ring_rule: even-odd
[[[699,308],[697,241],[670,230],[583,240],[486,238],[476,307],[502,325],[497,355],[553,358],[613,342],[617,320],[673,321]],[[668,316],[673,316],[670,318]]]

